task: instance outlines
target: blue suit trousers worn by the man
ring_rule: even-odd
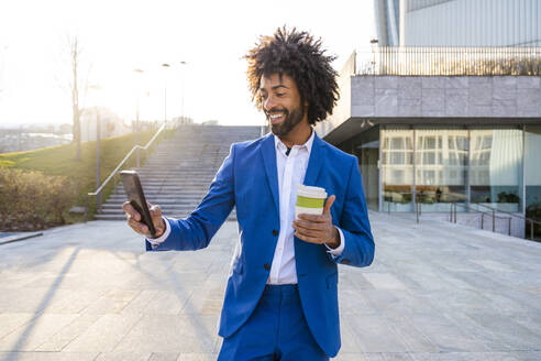
[[[329,360],[311,335],[297,285],[267,285],[254,313],[224,338],[219,361]]]

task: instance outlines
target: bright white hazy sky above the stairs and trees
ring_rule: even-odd
[[[126,123],[139,105],[145,120],[258,125],[265,119],[251,101],[243,55],[260,35],[281,25],[309,31],[340,70],[369,46],[373,18],[372,0],[2,0],[0,124],[71,123],[66,44],[77,36],[91,86],[86,107],[108,107]]]

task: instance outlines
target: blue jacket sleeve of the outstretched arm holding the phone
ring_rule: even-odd
[[[196,210],[186,219],[167,218],[169,236],[155,248],[145,241],[147,251],[191,251],[209,245],[234,206],[234,157],[235,144],[231,145],[228,157]]]

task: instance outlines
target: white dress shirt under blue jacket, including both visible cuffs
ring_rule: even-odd
[[[297,267],[295,264],[295,244],[292,221],[295,219],[295,205],[297,203],[297,189],[305,180],[310,152],[312,150],[314,131],[308,141],[302,145],[294,145],[289,155],[286,155],[287,146],[274,136],[276,146],[276,171],[278,172],[278,192],[279,192],[279,217],[280,232],[274,251],[273,264],[267,284],[296,284]],[[165,220],[165,218],[164,218]],[[170,233],[170,226],[165,220],[166,230],[157,239],[147,239],[153,248],[165,241]],[[340,245],[335,249],[327,247],[328,252],[333,256],[340,255],[344,250],[344,234],[338,228],[340,234]]]

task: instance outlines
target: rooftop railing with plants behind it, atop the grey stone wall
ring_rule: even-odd
[[[541,76],[541,47],[375,46],[356,53],[355,74]]]

